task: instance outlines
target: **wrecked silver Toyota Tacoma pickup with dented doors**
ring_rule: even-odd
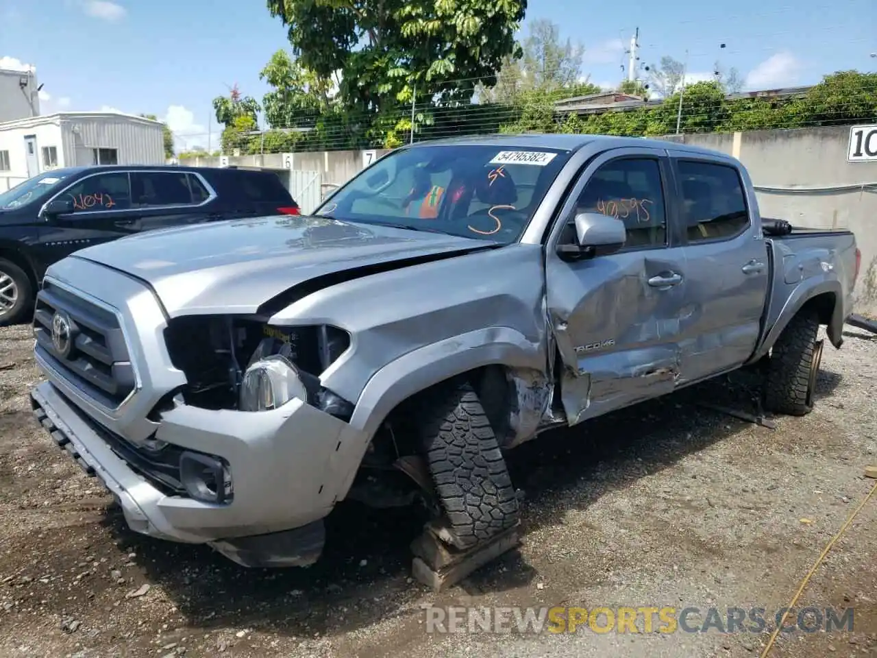
[[[504,454],[756,364],[807,413],[851,232],[763,221],[728,155],[594,135],[403,147],[308,217],[148,232],[49,268],[39,422],[133,530],[316,561],[356,499],[459,550],[517,524]]]

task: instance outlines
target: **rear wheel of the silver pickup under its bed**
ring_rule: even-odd
[[[813,391],[822,361],[822,341],[816,341],[819,318],[804,311],[792,318],[771,351],[765,377],[767,411],[803,416],[813,410]]]

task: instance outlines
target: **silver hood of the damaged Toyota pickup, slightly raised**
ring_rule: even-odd
[[[74,257],[146,281],[175,317],[252,313],[317,276],[491,246],[482,240],[328,218],[267,217],[139,233],[87,247]]]

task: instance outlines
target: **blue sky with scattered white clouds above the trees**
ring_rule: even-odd
[[[869,57],[877,51],[875,0],[530,0],[524,30],[533,18],[581,42],[582,74],[602,85],[621,79],[637,26],[642,61],[684,60],[688,49],[695,79],[708,77],[717,58],[753,89],[877,68]],[[41,111],[153,113],[168,121],[178,147],[206,147],[210,131],[216,146],[211,99],[235,82],[260,99],[260,68],[285,46],[286,30],[261,0],[0,0],[0,67],[36,67]]]

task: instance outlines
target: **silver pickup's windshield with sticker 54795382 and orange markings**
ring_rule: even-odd
[[[403,149],[357,175],[316,212],[508,244],[520,238],[568,156],[536,147]]]

